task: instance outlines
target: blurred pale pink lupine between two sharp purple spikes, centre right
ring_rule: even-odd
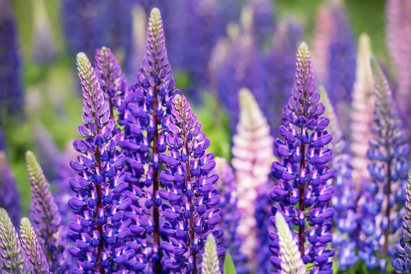
[[[242,214],[238,233],[244,238],[242,250],[252,266],[253,254],[257,252],[256,198],[260,186],[269,181],[270,162],[273,160],[273,138],[270,127],[258,103],[247,89],[239,92],[240,121],[233,137],[232,164],[236,171],[238,209]]]

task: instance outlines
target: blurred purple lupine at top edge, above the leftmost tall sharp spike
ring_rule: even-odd
[[[108,0],[63,0],[60,6],[66,50],[71,56],[85,52],[94,58],[95,49],[108,42]]]

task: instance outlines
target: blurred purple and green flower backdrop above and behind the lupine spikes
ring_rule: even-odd
[[[75,54],[84,51],[93,60],[96,48],[110,47],[132,84],[155,6],[176,86],[194,105],[211,151],[226,158],[242,86],[254,93],[275,136],[301,41],[312,49],[317,82],[329,91],[352,88],[363,32],[391,71],[384,0],[0,0],[0,149],[23,208],[31,199],[25,151],[35,151],[53,181],[66,147],[78,138],[82,91]]]

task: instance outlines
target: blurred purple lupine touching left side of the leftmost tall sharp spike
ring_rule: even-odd
[[[53,181],[55,192],[53,193],[54,201],[57,204],[58,212],[62,216],[62,224],[68,225],[73,219],[73,211],[69,208],[67,202],[73,197],[74,192],[70,187],[69,180],[75,177],[77,173],[71,169],[70,161],[77,156],[77,151],[73,148],[73,142],[66,145],[66,149],[60,156],[58,162],[58,173]]]

